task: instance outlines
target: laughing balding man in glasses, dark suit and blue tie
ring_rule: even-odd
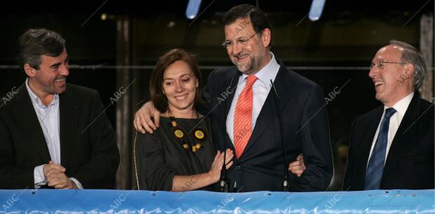
[[[383,105],[352,124],[343,189],[434,189],[434,104],[418,93],[422,55],[391,41],[368,75]]]

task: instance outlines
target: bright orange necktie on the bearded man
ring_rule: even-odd
[[[246,86],[237,100],[236,112],[234,112],[234,148],[238,159],[252,134],[253,84],[256,80],[257,76],[248,76]]]

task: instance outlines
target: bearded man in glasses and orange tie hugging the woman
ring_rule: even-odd
[[[300,177],[290,175],[290,191],[326,190],[333,162],[321,88],[288,70],[269,51],[272,31],[260,9],[247,4],[235,6],[224,22],[226,39],[222,45],[236,66],[217,69],[208,76],[209,102],[203,113],[213,121],[215,147],[221,151],[231,148],[236,154],[228,171],[230,187],[236,186],[236,192],[282,191],[284,175],[291,170],[288,163],[303,153],[306,169]],[[271,80],[279,103],[274,99]],[[154,124],[147,123],[151,122],[146,117],[149,113],[142,115],[142,111],[143,107],[135,115],[135,127],[152,131]],[[154,121],[156,117],[154,114]]]

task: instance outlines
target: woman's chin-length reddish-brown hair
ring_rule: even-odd
[[[176,48],[168,51],[163,56],[159,58],[159,61],[152,71],[151,78],[149,79],[149,93],[151,95],[151,100],[154,103],[159,112],[166,112],[168,110],[168,98],[163,94],[163,76],[166,69],[176,61],[185,61],[192,69],[192,73],[198,79],[198,87],[196,88],[194,107],[202,100],[202,79],[201,72],[199,70],[198,62],[196,62],[195,56],[185,50]]]

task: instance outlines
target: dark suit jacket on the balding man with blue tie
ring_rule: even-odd
[[[364,189],[368,156],[383,112],[382,105],[352,124],[343,189]],[[391,143],[380,189],[434,189],[434,105],[417,92]]]

